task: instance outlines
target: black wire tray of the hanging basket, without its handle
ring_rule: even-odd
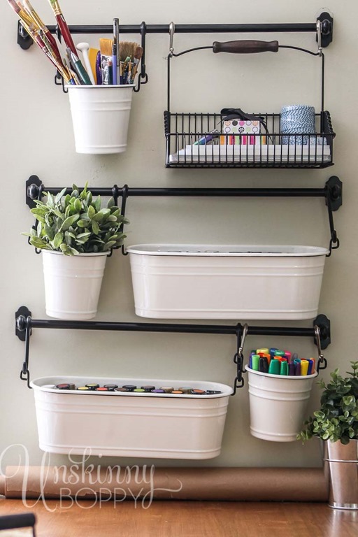
[[[315,115],[316,134],[281,134],[280,114],[255,116],[261,121],[250,134],[227,134],[222,113],[164,112],[166,167],[326,168],[334,164],[335,134],[329,112]]]

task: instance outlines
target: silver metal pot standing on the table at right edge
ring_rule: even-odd
[[[358,440],[346,445],[324,442],[324,464],[329,473],[329,507],[358,510]]]

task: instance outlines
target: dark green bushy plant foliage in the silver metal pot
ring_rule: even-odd
[[[351,361],[352,371],[348,377],[342,377],[339,369],[331,373],[331,382],[327,385],[323,380],[318,384],[323,389],[321,408],[305,422],[297,436],[303,441],[318,436],[322,440],[338,440],[348,444],[358,439],[358,361]]]

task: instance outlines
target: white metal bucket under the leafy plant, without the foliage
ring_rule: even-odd
[[[47,315],[78,321],[95,317],[108,252],[71,256],[42,250],[42,256]]]

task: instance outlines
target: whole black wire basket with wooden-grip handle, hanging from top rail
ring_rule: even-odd
[[[166,167],[317,169],[332,166],[335,134],[331,116],[324,110],[324,54],[320,39],[318,45],[317,52],[279,45],[278,41],[215,41],[213,45],[183,50],[178,54],[171,49],[168,56],[168,106],[164,112]],[[235,54],[294,49],[317,57],[321,60],[320,112],[315,113],[315,120],[312,117],[312,122],[308,122],[304,133],[292,133],[287,117],[281,121],[283,118],[279,113],[248,114],[240,108],[223,108],[220,113],[171,112],[171,58],[203,49]]]

